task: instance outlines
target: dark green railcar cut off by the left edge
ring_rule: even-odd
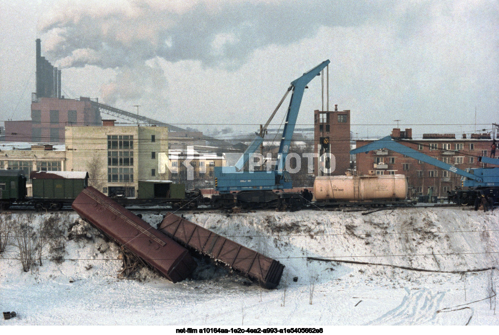
[[[7,209],[26,198],[26,177],[22,170],[0,169],[0,206]]]

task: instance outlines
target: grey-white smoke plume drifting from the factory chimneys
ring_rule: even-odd
[[[349,14],[335,15],[340,8]],[[287,45],[313,36],[320,26],[356,24],[371,15],[344,1],[90,0],[56,8],[40,30],[45,53],[59,68],[116,71],[101,88],[103,102],[141,98],[164,107],[167,81],[151,60],[237,69],[255,49]]]

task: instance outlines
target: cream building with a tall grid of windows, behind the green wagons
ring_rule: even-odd
[[[156,126],[66,126],[66,171],[87,171],[102,193],[136,197],[139,180],[170,179],[166,168],[168,128]]]

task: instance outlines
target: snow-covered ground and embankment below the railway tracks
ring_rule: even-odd
[[[0,256],[0,308],[18,315],[0,325],[499,325],[495,298],[485,299],[497,291],[498,270],[462,275],[306,259],[443,271],[497,267],[498,212],[412,208],[365,216],[325,211],[185,216],[278,259],[286,266],[278,289],[246,286],[246,279],[207,264],[200,264],[196,279],[177,284],[147,269],[140,281],[118,279],[118,247],[89,228],[92,239],[66,241],[64,262],[46,260],[27,273],[12,259],[16,248],[7,247]],[[156,224],[162,216],[143,219]],[[71,214],[69,221],[77,220]]]

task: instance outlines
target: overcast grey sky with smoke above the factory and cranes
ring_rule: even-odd
[[[256,130],[326,59],[329,108],[358,136],[499,122],[497,0],[0,0],[0,18],[1,120],[30,117],[41,38],[66,97],[180,126]],[[309,87],[299,127],[322,107],[320,77]]]

